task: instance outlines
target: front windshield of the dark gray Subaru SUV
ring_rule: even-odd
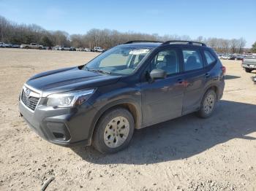
[[[83,69],[105,74],[129,75],[138,68],[140,61],[150,50],[141,47],[113,47],[87,63]]]

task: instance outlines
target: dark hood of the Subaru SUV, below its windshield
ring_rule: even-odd
[[[92,71],[81,70],[80,67],[46,71],[31,77],[26,84],[37,90],[48,93],[59,93],[99,87],[116,83],[120,76],[110,76]]]

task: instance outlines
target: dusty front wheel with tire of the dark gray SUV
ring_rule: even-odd
[[[121,151],[129,145],[134,128],[134,119],[127,109],[110,109],[97,122],[92,145],[104,154]]]

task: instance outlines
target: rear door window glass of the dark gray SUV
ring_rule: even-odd
[[[185,71],[203,69],[203,59],[199,50],[182,50],[182,53]]]

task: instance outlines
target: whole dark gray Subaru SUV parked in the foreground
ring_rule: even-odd
[[[89,63],[31,77],[20,114],[42,138],[93,145],[103,153],[127,147],[134,129],[197,112],[214,112],[225,67],[200,42],[127,42]]]

